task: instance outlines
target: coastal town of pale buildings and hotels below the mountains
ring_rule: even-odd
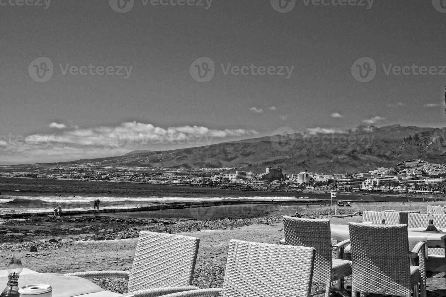
[[[155,167],[31,167],[0,168],[0,177],[32,179],[95,180],[121,183],[151,183],[223,187],[269,191],[381,191],[433,193],[446,190],[446,165],[421,159],[368,172],[324,174],[285,172],[267,167],[264,173],[242,167],[172,169]]]

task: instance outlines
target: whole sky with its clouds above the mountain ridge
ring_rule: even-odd
[[[446,126],[441,1],[0,0],[0,164]]]

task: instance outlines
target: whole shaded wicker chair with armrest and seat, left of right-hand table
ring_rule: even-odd
[[[313,282],[326,284],[325,296],[330,296],[332,281],[338,281],[336,290],[344,296],[350,296],[342,289],[343,278],[351,275],[351,261],[333,259],[333,248],[341,249],[349,240],[332,246],[330,220],[310,220],[283,217],[286,245],[303,245],[316,248],[314,257]],[[324,291],[312,293],[316,295]]]

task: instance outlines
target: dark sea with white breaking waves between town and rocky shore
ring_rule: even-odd
[[[282,201],[318,203],[330,201],[330,193],[240,191],[183,185],[117,183],[66,179],[0,178],[0,214],[148,207],[157,203],[190,201]],[[338,200],[400,202],[405,198],[339,194]],[[417,200],[417,199],[415,199]],[[421,199],[420,199],[421,201]]]

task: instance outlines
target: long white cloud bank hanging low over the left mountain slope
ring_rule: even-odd
[[[123,122],[116,126],[66,128],[51,123],[51,133],[28,136],[0,135],[0,164],[57,162],[123,155],[133,150],[172,150],[206,146],[224,140],[257,135],[255,130],[211,129],[204,126],[158,127]],[[66,128],[66,129],[62,129]],[[17,160],[17,161],[16,161]]]

